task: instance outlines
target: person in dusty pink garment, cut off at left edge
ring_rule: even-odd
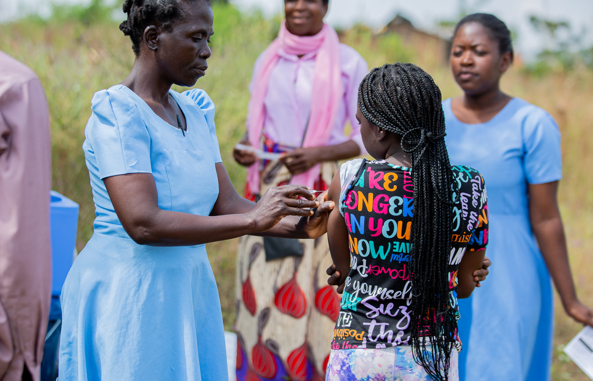
[[[0,51],[0,380],[40,379],[51,299],[49,114],[37,75]]]

